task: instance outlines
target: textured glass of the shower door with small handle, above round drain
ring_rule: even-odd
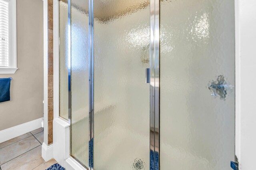
[[[149,169],[148,0],[94,1],[94,169]]]

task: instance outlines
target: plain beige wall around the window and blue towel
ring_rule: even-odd
[[[17,67],[11,101],[0,103],[0,130],[43,117],[43,1],[17,0]]]

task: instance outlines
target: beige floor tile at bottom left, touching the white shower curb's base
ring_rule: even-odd
[[[42,146],[36,147],[17,158],[1,165],[2,170],[32,170],[38,165],[44,163],[41,154]]]

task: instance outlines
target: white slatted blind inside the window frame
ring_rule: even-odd
[[[9,4],[0,0],[0,67],[9,67]]]

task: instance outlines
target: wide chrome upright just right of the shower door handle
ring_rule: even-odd
[[[150,170],[160,162],[160,0],[150,0]],[[151,163],[153,162],[153,163]]]

